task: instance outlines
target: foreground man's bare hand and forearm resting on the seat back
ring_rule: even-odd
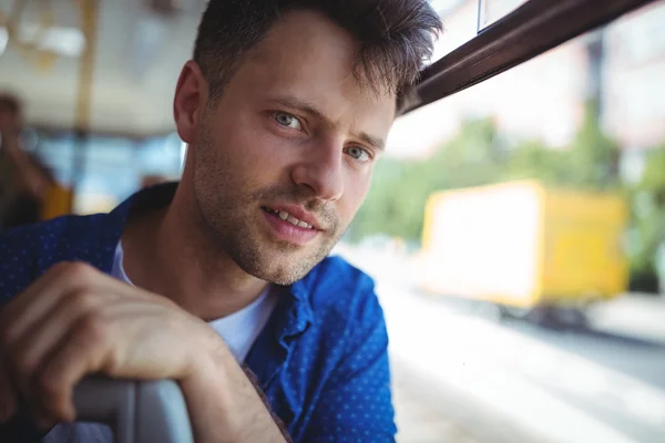
[[[0,422],[19,403],[41,430],[74,420],[73,387],[98,372],[178,381],[198,443],[285,442],[216,331],[161,296],[61,264],[0,310]]]

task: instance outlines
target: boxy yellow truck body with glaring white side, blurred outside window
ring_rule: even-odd
[[[421,285],[430,292],[529,309],[626,289],[620,196],[514,182],[434,194],[426,212]]]

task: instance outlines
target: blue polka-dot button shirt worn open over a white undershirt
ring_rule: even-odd
[[[175,186],[141,190],[110,214],[66,216],[2,235],[0,305],[59,261],[83,260],[110,274],[130,209],[167,205]],[[291,439],[395,441],[388,336],[372,280],[329,257],[279,290],[245,363]]]

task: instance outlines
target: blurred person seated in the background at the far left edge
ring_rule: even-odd
[[[0,233],[39,222],[54,184],[39,158],[21,150],[21,127],[20,102],[0,94]]]

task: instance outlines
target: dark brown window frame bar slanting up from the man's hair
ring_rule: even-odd
[[[654,1],[529,0],[424,69],[407,94],[402,114],[491,79]]]

